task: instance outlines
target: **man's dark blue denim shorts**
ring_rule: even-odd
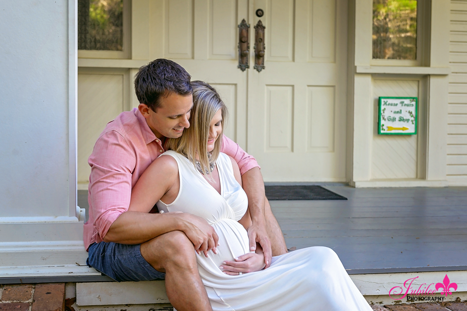
[[[165,279],[165,273],[154,269],[143,258],[140,245],[93,243],[89,246],[86,263],[118,282]]]

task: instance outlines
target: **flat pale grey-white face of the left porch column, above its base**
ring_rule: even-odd
[[[0,55],[0,217],[69,216],[67,1],[1,1]]]

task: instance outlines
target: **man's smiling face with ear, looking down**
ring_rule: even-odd
[[[171,93],[159,98],[160,106],[156,112],[145,104],[140,104],[143,116],[157,138],[177,138],[183,134],[183,129],[190,127],[190,112],[193,107],[193,96],[182,96]]]

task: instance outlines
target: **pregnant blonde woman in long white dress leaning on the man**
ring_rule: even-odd
[[[219,246],[197,256],[213,310],[370,311],[327,247],[273,257],[271,266],[262,270],[260,247],[256,253],[249,251],[245,228],[251,219],[238,165],[220,153],[227,107],[207,83],[193,81],[192,86],[191,126],[180,138],[166,142],[169,151],[148,167],[133,188],[129,210],[149,212],[157,202],[161,212],[191,213],[214,227]],[[168,171],[166,178],[157,177],[161,167]],[[239,256],[248,261],[248,269],[233,272],[231,264]]]

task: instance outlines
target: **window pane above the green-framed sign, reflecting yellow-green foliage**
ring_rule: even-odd
[[[416,0],[373,0],[373,58],[416,60]]]

